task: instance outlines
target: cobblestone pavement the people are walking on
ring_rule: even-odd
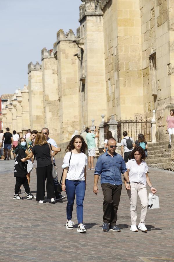
[[[87,234],[67,230],[67,199],[55,204],[36,200],[13,200],[14,161],[0,161],[0,261],[174,261],[173,172],[149,168],[157,188],[160,209],[148,210],[147,233],[130,231],[130,206],[123,187],[118,209],[121,232],[103,232],[103,194],[92,192],[93,171],[87,171],[84,224]],[[60,168],[62,160],[56,160]],[[31,192],[36,193],[36,169],[31,174]],[[150,190],[148,190],[150,193]],[[63,193],[65,194],[65,193]],[[26,198],[22,188],[21,196]],[[139,223],[140,203],[138,205]]]

